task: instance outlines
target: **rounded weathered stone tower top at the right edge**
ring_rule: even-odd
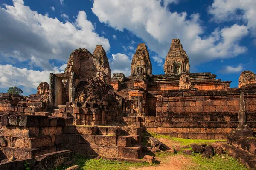
[[[239,88],[243,85],[255,84],[255,83],[256,83],[256,74],[254,74],[253,72],[246,70],[240,74],[240,77],[238,79]]]

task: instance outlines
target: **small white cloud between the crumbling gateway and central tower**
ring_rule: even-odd
[[[110,60],[111,73],[123,73],[125,76],[131,75],[131,60],[122,53],[112,54]]]

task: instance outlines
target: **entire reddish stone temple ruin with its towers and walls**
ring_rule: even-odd
[[[230,88],[230,81],[215,79],[211,73],[190,73],[189,67],[178,39],[172,40],[163,75],[152,75],[145,44],[138,45],[128,77],[122,73],[111,77],[101,45],[93,54],[76,49],[64,73],[51,73],[49,85],[40,83],[37,94],[1,94],[1,159],[36,158],[31,162],[38,169],[67,161],[63,154],[72,157],[70,150],[139,159],[143,130],[179,138],[226,139],[239,124],[241,92],[247,125],[256,130],[254,73],[244,71],[239,88]],[[55,154],[50,165],[42,163],[49,155],[40,157],[47,153]]]

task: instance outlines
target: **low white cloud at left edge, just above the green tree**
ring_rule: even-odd
[[[0,88],[25,86],[27,89],[35,89],[40,82],[49,83],[50,73],[60,73],[60,71],[61,69],[57,67],[49,71],[37,71],[17,68],[9,64],[0,65]]]

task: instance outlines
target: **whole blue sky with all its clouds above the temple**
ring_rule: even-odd
[[[10,86],[35,94],[49,73],[64,70],[76,48],[101,44],[112,73],[130,75],[139,43],[153,74],[173,38],[188,54],[191,72],[211,72],[238,86],[256,72],[255,0],[0,0],[0,92]]]

